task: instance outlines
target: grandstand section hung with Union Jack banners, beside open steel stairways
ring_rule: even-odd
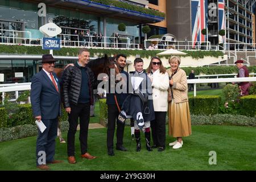
[[[168,33],[177,40],[191,40],[193,45],[209,41],[226,43],[226,49],[255,46],[255,0],[170,0],[167,20]]]

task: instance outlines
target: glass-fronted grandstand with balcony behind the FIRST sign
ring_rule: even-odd
[[[117,1],[121,6],[112,3],[98,0],[1,0],[0,44],[39,46],[44,37],[39,27],[48,22],[61,27],[62,32],[58,37],[61,45],[66,47],[142,48],[142,27],[145,24],[151,27],[148,35],[166,34],[166,0]],[[126,25],[125,31],[118,30],[121,23]],[[86,31],[89,32],[88,40],[85,38],[84,42],[79,42],[79,34]],[[94,35],[100,33],[103,43],[94,45],[97,42]],[[120,39],[115,38],[116,33]],[[122,43],[123,39],[125,43]],[[38,60],[41,57],[0,55],[0,73],[5,77],[2,83],[30,82],[31,77],[40,70]],[[72,60],[71,57],[55,57],[62,63],[63,60]]]

